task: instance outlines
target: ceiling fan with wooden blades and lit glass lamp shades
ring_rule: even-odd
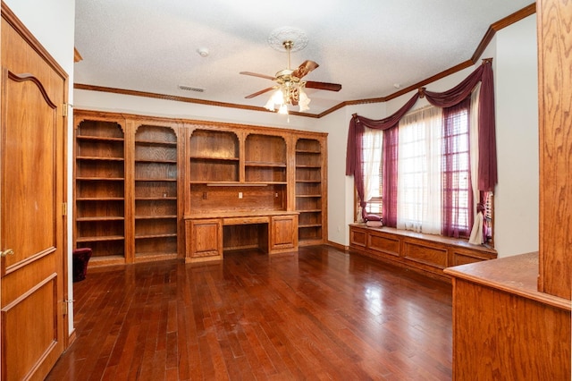
[[[252,75],[254,77],[265,78],[266,80],[273,80],[277,84],[273,87],[262,89],[256,93],[250,94],[245,98],[257,97],[265,92],[276,89],[273,96],[270,97],[265,105],[265,108],[270,111],[275,111],[276,106],[278,112],[281,114],[288,114],[288,105],[299,106],[300,112],[309,110],[307,106],[310,99],[307,97],[305,88],[307,89],[321,89],[328,91],[340,91],[341,85],[338,83],[316,82],[313,80],[301,80],[308,72],[312,72],[319,65],[314,61],[306,60],[299,65],[296,69],[290,69],[290,50],[294,47],[294,42],[290,39],[284,40],[282,46],[286,49],[288,54],[288,66],[286,69],[276,72],[274,77],[265,74],[258,74],[257,72],[240,72],[244,75]]]

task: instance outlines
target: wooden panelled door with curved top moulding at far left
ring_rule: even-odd
[[[2,13],[1,378],[43,379],[67,335],[62,112],[67,85],[63,71],[46,60],[4,4]]]

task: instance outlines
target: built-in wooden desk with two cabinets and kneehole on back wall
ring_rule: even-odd
[[[185,216],[185,262],[223,259],[223,250],[298,250],[298,212],[241,211]]]

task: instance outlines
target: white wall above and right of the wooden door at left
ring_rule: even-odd
[[[4,0],[8,8],[20,19],[28,30],[38,39],[39,43],[49,52],[63,70],[68,74],[68,102],[73,104],[73,36],[75,28],[75,0]],[[73,152],[73,129],[71,118],[68,120],[67,152],[68,157]],[[71,176],[73,174],[73,161],[68,161],[67,199],[68,214],[68,290],[69,299],[73,299],[73,285],[71,283],[71,237],[73,190]],[[73,310],[68,316],[70,333],[73,330]]]

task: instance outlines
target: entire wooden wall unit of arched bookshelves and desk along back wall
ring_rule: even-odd
[[[327,239],[325,133],[82,110],[74,125],[90,266]]]

